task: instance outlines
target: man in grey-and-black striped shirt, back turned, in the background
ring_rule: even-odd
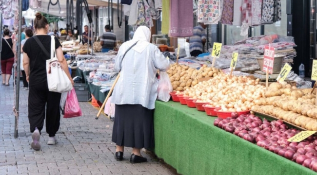
[[[103,33],[101,39],[100,39],[100,45],[102,46],[101,52],[107,53],[110,50],[113,50],[114,47],[117,46],[116,43],[116,35],[111,32],[110,25],[104,26],[105,33]]]

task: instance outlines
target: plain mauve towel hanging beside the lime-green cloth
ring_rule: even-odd
[[[187,37],[193,35],[193,0],[171,0],[170,36]]]

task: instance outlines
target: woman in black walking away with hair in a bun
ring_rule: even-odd
[[[40,132],[43,129],[44,119],[46,121],[46,132],[49,135],[47,144],[54,145],[57,143],[55,134],[59,130],[61,94],[48,90],[46,60],[50,57],[46,56],[45,52],[50,55],[51,36],[47,35],[49,27],[47,19],[40,13],[35,16],[34,28],[36,35],[27,39],[22,49],[24,52],[23,68],[26,80],[29,82],[28,118],[30,131],[33,133],[31,147],[34,150],[40,150]],[[59,40],[55,37],[56,56],[60,66],[74,84],[60,46]]]

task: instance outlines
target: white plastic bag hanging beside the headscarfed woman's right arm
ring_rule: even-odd
[[[168,74],[166,72],[160,72],[158,80],[158,100],[168,102],[171,98],[170,92],[172,91],[173,87]]]

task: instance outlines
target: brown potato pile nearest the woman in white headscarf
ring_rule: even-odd
[[[208,68],[203,65],[199,70],[190,68],[189,66],[173,64],[167,70],[170,77],[173,90],[183,91],[198,84],[198,78],[215,77],[222,73],[216,68]]]

